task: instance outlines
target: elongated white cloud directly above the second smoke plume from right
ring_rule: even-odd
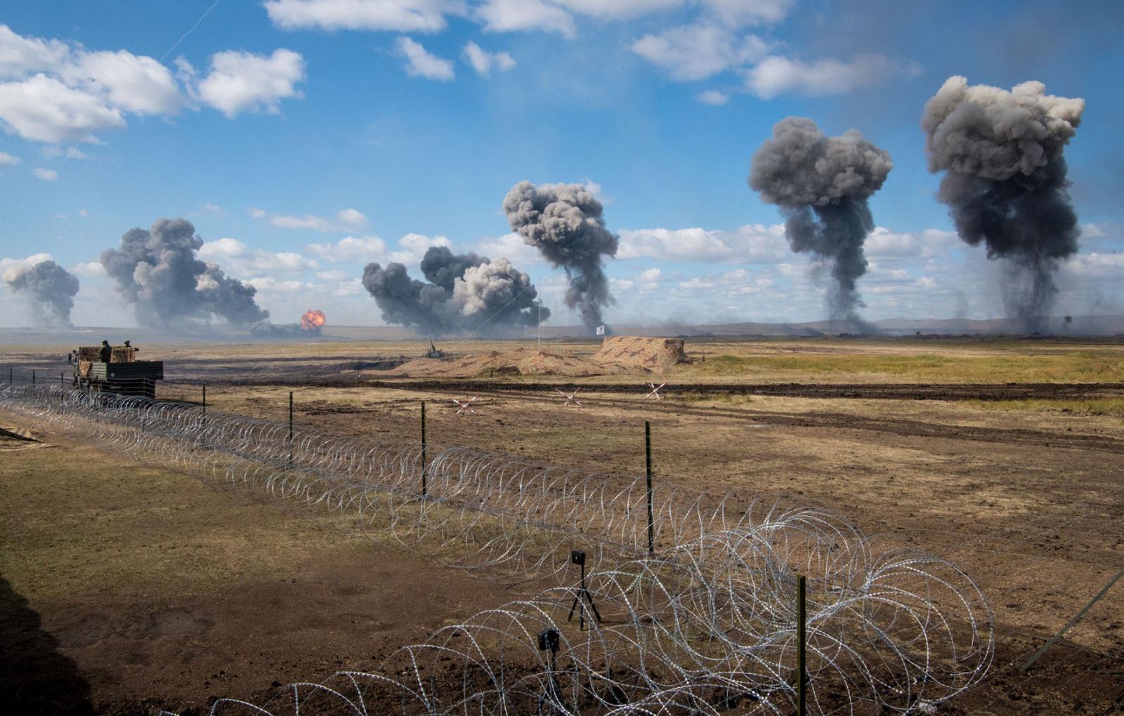
[[[808,97],[845,94],[895,75],[916,75],[914,63],[899,63],[882,55],[855,55],[850,62],[827,58],[801,62],[772,55],[745,71],[745,86],[763,99],[796,92]]]

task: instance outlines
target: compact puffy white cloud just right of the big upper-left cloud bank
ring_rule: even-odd
[[[193,75],[185,62],[180,66]],[[303,81],[305,58],[291,49],[268,56],[229,49],[211,55],[210,72],[194,85],[193,94],[230,118],[241,112],[275,114],[281,100],[305,97],[296,88]]]

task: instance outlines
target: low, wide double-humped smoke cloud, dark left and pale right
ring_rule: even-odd
[[[368,264],[363,286],[382,311],[382,320],[414,325],[428,334],[482,330],[502,333],[537,325],[550,310],[535,305],[538,293],[527,274],[506,258],[453,254],[434,246],[422,259],[426,282],[410,278],[402,264]]]

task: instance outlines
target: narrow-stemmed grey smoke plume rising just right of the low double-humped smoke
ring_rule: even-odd
[[[565,269],[565,304],[581,312],[587,327],[600,325],[601,309],[614,303],[602,256],[616,256],[620,240],[605,228],[601,202],[582,184],[519,182],[504,199],[504,211],[524,244]]]

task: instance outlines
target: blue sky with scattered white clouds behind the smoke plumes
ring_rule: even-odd
[[[75,272],[78,324],[132,324],[97,259],[161,217],[192,221],[277,322],[380,324],[363,266],[417,275],[435,244],[510,258],[561,306],[564,276],[500,211],[522,180],[602,198],[610,322],[816,320],[813,267],[745,183],[789,114],[894,158],[868,318],[997,316],[997,267],[934,200],[918,125],[953,74],[1086,100],[1058,312],[1124,311],[1120,2],[58,1],[0,25],[0,273]],[[0,325],[29,322],[0,302]]]

